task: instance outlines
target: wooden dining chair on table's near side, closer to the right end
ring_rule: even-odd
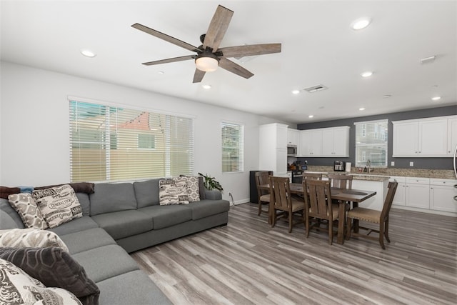
[[[321,220],[326,220],[328,244],[332,244],[333,233],[337,233],[333,231],[333,221],[338,219],[339,211],[338,204],[332,204],[330,199],[330,181],[306,179],[303,180],[303,190],[305,189],[308,189],[308,196],[304,196],[306,238],[310,229],[321,229]]]

